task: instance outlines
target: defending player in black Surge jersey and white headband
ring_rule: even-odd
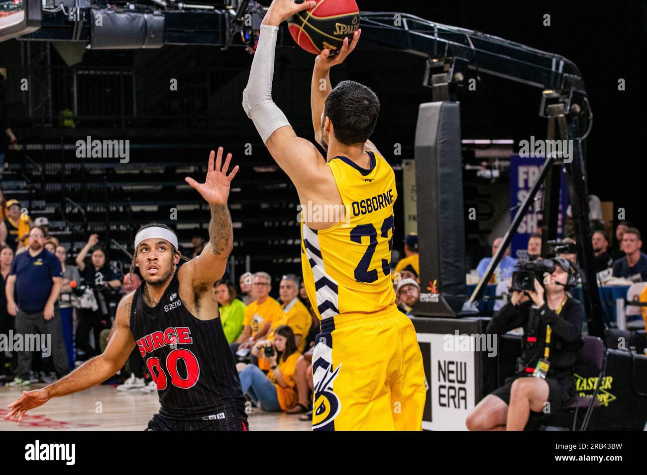
[[[105,381],[137,345],[161,404],[148,430],[247,430],[245,399],[212,290],[233,246],[227,197],[238,167],[227,174],[232,156],[227,154],[224,165],[222,157],[220,147],[214,169],[211,152],[203,184],[186,178],[211,207],[210,241],[202,253],[178,268],[175,233],[159,224],[142,227],[135,237],[131,270],[137,266],[145,283],[120,302],[105,352],[56,383],[23,391],[8,406],[7,419],[20,421],[27,410],[52,397]]]

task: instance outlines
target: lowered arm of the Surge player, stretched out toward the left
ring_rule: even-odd
[[[115,332],[105,348],[105,352],[86,361],[81,366],[55,383],[43,389],[23,391],[23,395],[8,405],[5,419],[21,421],[25,412],[41,406],[52,397],[66,396],[82,391],[105,381],[119,368],[135,348],[135,340],[129,328],[130,306],[133,293],[126,295],[119,303],[115,320]]]

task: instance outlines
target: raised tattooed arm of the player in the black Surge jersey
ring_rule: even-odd
[[[189,272],[193,288],[208,288],[220,279],[225,273],[229,254],[234,247],[234,231],[232,230],[232,216],[227,208],[230,182],[238,172],[238,165],[230,174],[227,174],[232,154],[228,153],[223,165],[223,147],[218,148],[215,158],[214,151],[209,154],[209,165],[204,183],[198,183],[193,178],[186,177],[186,182],[198,191],[211,208],[209,222],[209,242],[203,251],[180,268],[181,272]],[[182,270],[186,269],[186,270]]]

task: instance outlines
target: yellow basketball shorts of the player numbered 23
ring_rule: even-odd
[[[313,383],[313,430],[422,429],[422,354],[395,306],[323,319]]]

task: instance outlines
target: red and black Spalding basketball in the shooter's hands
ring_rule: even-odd
[[[345,37],[353,39],[359,27],[360,10],[355,0],[319,0],[314,8],[298,12],[288,21],[297,45],[313,54],[328,48],[331,56],[342,47]]]

